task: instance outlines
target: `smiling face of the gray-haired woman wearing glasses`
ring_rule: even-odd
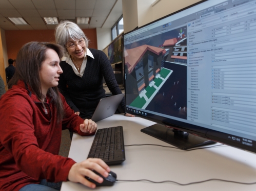
[[[75,60],[84,59],[86,53],[86,44],[85,40],[69,40],[66,43],[68,54]]]

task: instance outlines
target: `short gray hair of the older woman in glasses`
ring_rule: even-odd
[[[68,55],[66,43],[72,40],[78,40],[83,38],[85,40],[86,47],[89,45],[89,39],[85,36],[85,33],[76,25],[76,23],[69,20],[63,20],[58,24],[55,29],[55,41],[64,47],[66,55]]]

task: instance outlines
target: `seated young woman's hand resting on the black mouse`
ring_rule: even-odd
[[[99,183],[103,182],[103,178],[91,170],[97,171],[104,177],[108,177],[110,172],[109,166],[102,159],[88,158],[72,165],[68,173],[68,180],[71,182],[80,182],[90,188],[95,188],[96,185],[88,181],[85,177],[89,177]]]

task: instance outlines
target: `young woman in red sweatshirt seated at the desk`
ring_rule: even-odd
[[[62,125],[84,136],[97,124],[83,120],[58,92],[62,74],[60,45],[29,42],[18,52],[11,88],[0,99],[0,190],[60,190],[62,181],[91,188],[102,183],[109,166],[101,159],[76,163],[59,156]],[[54,189],[53,189],[54,188]]]

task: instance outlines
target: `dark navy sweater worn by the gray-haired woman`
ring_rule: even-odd
[[[74,112],[80,111],[82,118],[91,117],[99,101],[105,98],[105,90],[102,85],[103,77],[113,95],[122,93],[106,54],[95,49],[89,50],[94,59],[87,56],[83,77],[77,76],[72,67],[66,61],[62,61],[60,65],[63,74],[61,74],[58,82],[58,88],[66,102]],[[125,99],[122,100],[120,105],[124,110]]]

